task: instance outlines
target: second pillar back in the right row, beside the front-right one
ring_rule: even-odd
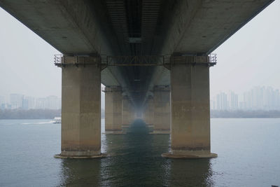
[[[153,88],[154,123],[152,134],[170,133],[170,91],[169,86]]]

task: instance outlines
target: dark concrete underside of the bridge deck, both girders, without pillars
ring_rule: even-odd
[[[207,55],[272,0],[139,2],[0,0],[0,6],[64,55]],[[130,36],[141,43],[128,43]],[[169,71],[108,67],[102,83],[121,86],[141,106],[146,92],[134,90],[169,85]]]

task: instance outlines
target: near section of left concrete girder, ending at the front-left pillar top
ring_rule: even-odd
[[[98,20],[102,17],[85,2],[3,0],[0,6],[63,54],[109,53],[109,41]]]

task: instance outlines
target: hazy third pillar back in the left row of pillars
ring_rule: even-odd
[[[122,124],[123,127],[129,127],[133,121],[135,120],[135,112],[132,102],[127,97],[127,95],[123,96],[123,106],[122,106]]]

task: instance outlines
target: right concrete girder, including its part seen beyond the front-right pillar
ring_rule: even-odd
[[[273,1],[165,1],[153,54],[208,55]],[[169,85],[167,69],[155,68],[154,85]]]

